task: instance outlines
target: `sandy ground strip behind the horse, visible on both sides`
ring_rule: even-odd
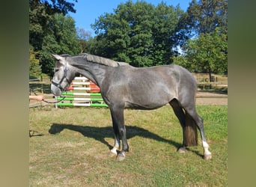
[[[39,94],[38,94],[39,95]],[[55,99],[52,94],[43,94],[47,101],[54,102]],[[29,107],[35,107],[40,105],[52,105],[46,102],[38,102],[30,100]],[[196,96],[196,105],[228,105],[228,94],[210,93],[198,91]]]

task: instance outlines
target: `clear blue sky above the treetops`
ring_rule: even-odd
[[[91,31],[91,34],[94,35],[94,31],[91,29],[91,24],[94,24],[95,19],[104,13],[113,13],[113,10],[118,7],[118,4],[125,3],[127,0],[78,0],[75,3],[76,13],[69,13],[76,21],[76,27],[84,28],[85,31]],[[136,2],[137,0],[132,0]],[[162,0],[145,0],[150,4],[157,5],[162,2]],[[168,5],[173,5],[174,7],[177,4],[180,4],[180,8],[186,11],[189,7],[189,2],[192,0],[171,0],[164,1]]]

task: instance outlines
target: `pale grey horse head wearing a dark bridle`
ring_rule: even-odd
[[[55,96],[60,96],[70,82],[73,80],[75,73],[71,71],[72,67],[68,63],[67,57],[53,55],[56,58],[56,67],[52,78],[51,91]]]

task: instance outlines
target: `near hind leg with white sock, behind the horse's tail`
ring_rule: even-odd
[[[195,105],[189,105],[184,108],[186,112],[195,120],[195,123],[197,124],[198,129],[200,130],[201,139],[204,147],[204,159],[211,159],[212,153],[210,153],[209,151],[209,145],[207,144],[207,140],[204,134],[204,120],[198,115],[198,112],[195,109]]]

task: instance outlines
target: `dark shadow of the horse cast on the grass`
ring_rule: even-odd
[[[112,145],[110,145],[107,141],[105,141],[105,138],[114,138],[112,126],[94,127],[94,126],[76,126],[76,125],[70,125],[70,124],[53,123],[49,129],[49,133],[57,134],[63,131],[64,129],[80,132],[85,137],[94,138],[95,140],[100,141],[103,144],[106,144],[106,146],[108,146],[109,149],[113,148]],[[159,135],[154,134],[153,132],[150,132],[138,126],[126,126],[126,129],[127,129],[127,139],[133,138],[135,136],[141,136],[143,138],[150,138],[156,141],[162,141],[162,142],[171,144],[177,148],[181,146],[181,144],[177,143],[176,141],[167,140],[165,138],[160,137]]]

